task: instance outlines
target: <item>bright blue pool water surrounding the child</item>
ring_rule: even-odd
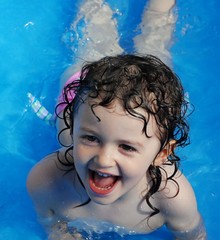
[[[128,35],[124,29],[136,26],[145,1],[131,0],[130,5],[127,0],[117,2],[109,1],[113,9],[123,13],[116,17],[120,20],[121,45],[129,51],[134,32]],[[195,189],[209,239],[216,240],[220,226],[220,3],[177,2],[173,65],[195,105],[190,117],[191,145],[181,150],[182,165]],[[31,92],[53,110],[59,77],[72,63],[66,38],[79,3],[0,0],[0,239],[45,239],[25,181],[30,168],[58,144],[55,130],[32,112],[27,94]],[[108,236],[120,239],[110,235],[103,239]],[[148,238],[128,239],[171,238],[162,229]]]

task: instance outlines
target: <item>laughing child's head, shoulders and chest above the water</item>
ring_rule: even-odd
[[[85,65],[63,94],[73,145],[28,178],[49,232],[93,218],[141,233],[166,224],[176,239],[206,239],[194,192],[178,170],[188,103],[177,76],[151,55],[105,57]]]

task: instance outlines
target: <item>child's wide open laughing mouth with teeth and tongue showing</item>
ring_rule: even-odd
[[[97,194],[106,195],[110,193],[118,183],[119,176],[89,171],[89,186],[91,190]]]

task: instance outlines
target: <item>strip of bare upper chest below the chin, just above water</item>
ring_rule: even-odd
[[[108,222],[115,226],[124,227],[130,231],[136,232],[151,232],[152,230],[159,228],[164,224],[162,215],[156,214],[153,217],[148,217],[152,213],[152,210],[147,206],[147,203],[143,203],[146,206],[138,209],[137,204],[131,205],[99,205],[93,202],[89,202],[82,206],[72,206],[68,208],[63,207],[55,211],[57,220],[73,222],[75,220],[88,219],[91,226],[91,219],[93,219],[94,225],[97,222]],[[77,226],[76,226],[77,227]]]

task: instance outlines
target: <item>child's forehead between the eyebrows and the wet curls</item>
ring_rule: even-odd
[[[113,129],[118,129],[118,132],[127,129],[126,131],[130,133],[136,131],[136,134],[145,137],[147,133],[149,137],[158,138],[156,121],[144,109],[137,108],[136,113],[131,114],[124,109],[119,100],[113,101],[108,106],[101,106],[99,102],[99,99],[91,98],[83,102],[74,118],[74,125],[104,126],[109,129],[114,126]]]

